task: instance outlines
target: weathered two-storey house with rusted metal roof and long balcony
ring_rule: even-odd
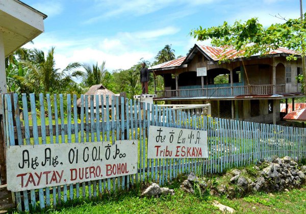
[[[297,61],[286,60],[292,54]],[[221,56],[227,61],[219,63]],[[149,70],[164,78],[164,90],[155,89],[155,101],[210,103],[213,117],[275,124],[281,120],[280,100],[292,98],[294,102],[303,96],[296,80],[301,67],[300,56],[285,48],[246,59],[234,49],[224,52],[220,47],[195,44],[186,57]]]

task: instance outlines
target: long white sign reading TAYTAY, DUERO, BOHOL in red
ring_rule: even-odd
[[[10,146],[7,189],[33,190],[131,175],[137,172],[138,141]]]

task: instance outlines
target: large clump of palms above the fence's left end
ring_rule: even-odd
[[[17,93],[65,93],[74,91],[77,84],[72,77],[81,73],[80,63],[70,63],[65,69],[55,68],[54,47],[45,56],[42,50],[17,50],[7,60],[9,91]]]

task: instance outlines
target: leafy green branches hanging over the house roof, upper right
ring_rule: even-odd
[[[223,46],[225,51],[226,48],[234,48],[243,57],[258,54],[263,56],[279,47],[294,49],[302,57],[306,55],[305,14],[301,18],[285,20],[285,23],[271,24],[267,28],[259,23],[258,18],[251,18],[243,23],[236,21],[233,25],[224,21],[222,25],[207,29],[202,29],[200,26],[198,29],[191,31],[190,35],[200,41],[212,39],[211,43],[213,45]],[[222,55],[221,61],[225,58],[226,56]],[[296,59],[294,55],[287,57],[287,60]],[[306,72],[305,68],[303,72]]]

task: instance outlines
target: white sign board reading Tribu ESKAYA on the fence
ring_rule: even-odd
[[[149,126],[147,158],[208,157],[207,131]]]

